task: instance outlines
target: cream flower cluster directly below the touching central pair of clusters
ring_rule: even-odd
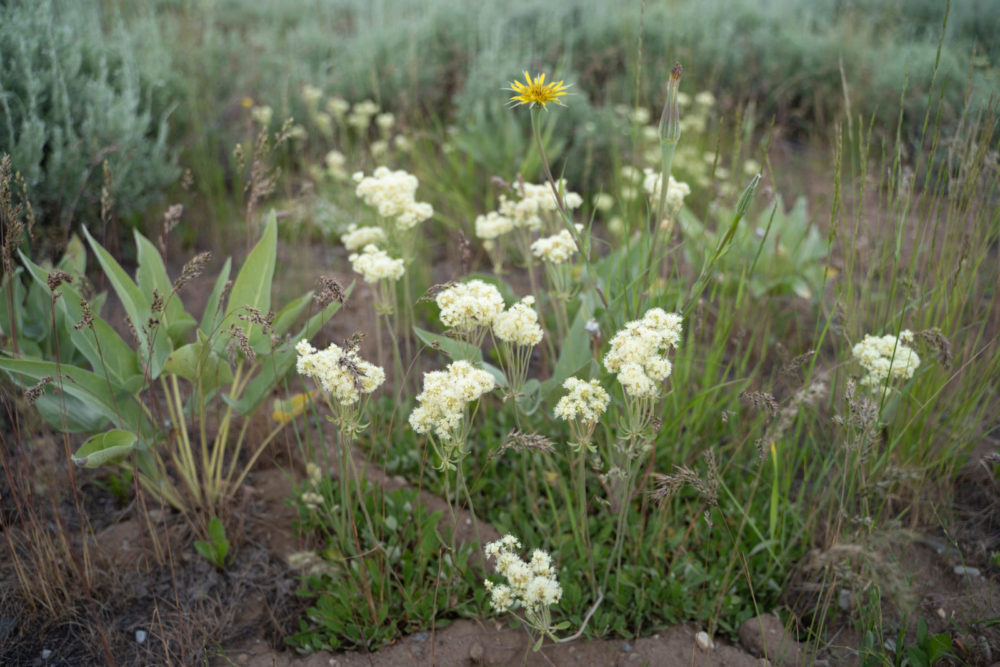
[[[420,434],[433,433],[451,442],[461,426],[465,408],[496,386],[493,376],[468,361],[455,361],[443,371],[424,373],[420,403],[410,413],[410,426]]]

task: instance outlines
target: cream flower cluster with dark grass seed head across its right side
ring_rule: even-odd
[[[355,350],[331,343],[318,351],[309,341],[301,340],[295,351],[299,355],[295,364],[299,374],[318,380],[323,391],[340,405],[354,405],[361,394],[370,394],[385,382],[385,371],[359,357]]]

